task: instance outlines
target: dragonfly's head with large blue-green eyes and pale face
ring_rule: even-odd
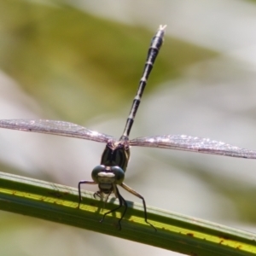
[[[121,184],[125,172],[119,166],[96,166],[91,172],[92,179],[99,184],[99,189],[104,194],[113,192],[113,184]]]

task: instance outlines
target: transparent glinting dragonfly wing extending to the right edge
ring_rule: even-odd
[[[233,157],[256,159],[256,151],[238,148],[230,144],[212,141],[208,138],[186,135],[163,135],[138,137],[130,141],[131,146],[170,148],[205,154],[220,154]]]

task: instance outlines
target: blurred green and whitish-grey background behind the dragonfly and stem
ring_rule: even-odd
[[[252,1],[0,0],[0,119],[61,119],[119,137],[150,39],[167,24],[131,137],[185,133],[256,148],[255,14]],[[90,179],[104,148],[20,131],[0,131],[0,141],[2,172],[71,186]],[[148,205],[253,231],[254,167],[253,160],[132,148],[125,183]],[[3,255],[130,255],[131,247],[177,255],[0,214]]]

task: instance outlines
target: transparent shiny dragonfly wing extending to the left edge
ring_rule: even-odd
[[[108,140],[115,141],[112,136],[97,131],[91,131],[80,125],[47,119],[0,120],[0,127],[19,131],[33,131],[66,137],[78,137],[99,143],[107,143]]]

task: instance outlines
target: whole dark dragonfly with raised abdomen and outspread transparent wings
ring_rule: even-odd
[[[143,195],[137,193],[124,183],[125,171],[130,158],[131,146],[151,147],[151,148],[168,148],[183,151],[192,151],[204,154],[218,154],[224,156],[232,156],[247,159],[256,159],[256,151],[246,148],[239,148],[227,143],[218,142],[209,138],[191,137],[186,135],[160,135],[153,137],[137,137],[129,139],[131,126],[140,105],[143,90],[147,84],[149,73],[154,65],[154,61],[160,51],[160,47],[164,41],[166,26],[160,26],[151,40],[148,49],[147,59],[143,69],[143,76],[140,79],[137,94],[133,99],[130,114],[126,120],[125,130],[119,139],[97,131],[91,131],[83,126],[75,125],[66,121],[49,120],[49,119],[2,119],[0,127],[19,130],[32,131],[39,133],[47,133],[64,137],[76,137],[85,140],[91,140],[98,143],[106,143],[106,147],[102,153],[101,164],[96,166],[92,172],[92,180],[81,180],[78,185],[79,189],[79,207],[82,202],[81,185],[82,184],[98,184],[98,191],[95,196],[108,201],[108,196],[113,194],[119,200],[119,206],[103,214],[101,222],[111,212],[125,207],[118,221],[118,228],[121,230],[121,220],[125,216],[127,210],[127,202],[119,193],[119,187],[137,196],[143,201],[144,220],[147,224],[154,228],[153,224],[148,222],[146,201]],[[154,228],[155,230],[155,228]]]

